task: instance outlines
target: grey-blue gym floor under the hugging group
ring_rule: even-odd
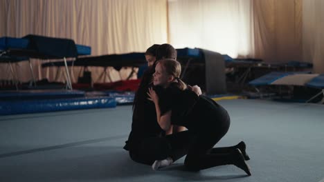
[[[324,105],[219,101],[231,128],[217,146],[245,141],[252,176],[233,165],[154,171],[123,145],[132,106],[0,117],[0,181],[294,181],[324,178]]]

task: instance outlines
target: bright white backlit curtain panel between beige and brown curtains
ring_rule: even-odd
[[[170,43],[231,57],[253,56],[250,0],[168,1]]]

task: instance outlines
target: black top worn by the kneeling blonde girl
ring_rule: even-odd
[[[161,114],[172,110],[171,124],[182,125],[195,132],[204,132],[229,121],[228,112],[213,99],[197,96],[191,90],[180,90],[177,83],[157,92]]]

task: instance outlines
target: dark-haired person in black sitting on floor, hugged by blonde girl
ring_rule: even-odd
[[[177,58],[177,51],[170,44],[162,44],[156,48],[156,60],[162,58],[175,59]],[[129,151],[129,156],[133,161],[147,165],[152,165],[155,160],[166,159],[170,156],[172,156],[172,161],[180,159],[187,154],[187,146],[191,137],[188,132],[179,132],[186,129],[184,127],[174,127],[174,130],[170,127],[170,130],[165,132],[156,121],[154,103],[147,100],[146,94],[148,89],[152,87],[154,70],[155,63],[143,74],[135,94],[132,131],[129,133],[124,147],[125,150]],[[192,86],[192,90],[201,94],[197,85]]]

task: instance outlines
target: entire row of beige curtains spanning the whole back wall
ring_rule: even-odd
[[[266,62],[312,62],[323,73],[323,8],[317,0],[0,0],[0,37],[69,38],[90,45],[92,55],[143,52],[168,42]],[[32,63],[37,79],[53,80],[56,68]],[[31,79],[27,62],[14,69],[20,81]],[[90,68],[94,80],[102,69]],[[73,72],[75,82],[80,69]],[[112,81],[120,79],[109,72]],[[1,64],[0,79],[9,73]]]

